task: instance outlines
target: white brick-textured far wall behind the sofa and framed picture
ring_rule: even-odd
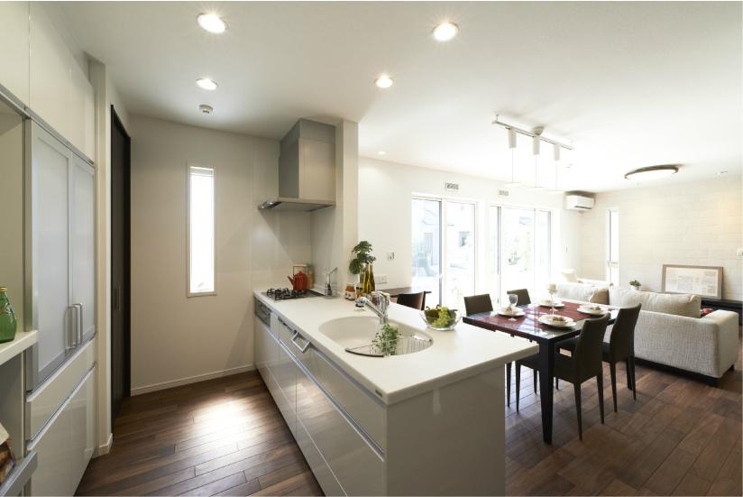
[[[606,212],[619,209],[619,280],[660,291],[663,264],[722,266],[725,299],[743,299],[741,177],[722,176],[671,186],[596,195],[581,215],[579,275],[605,279]]]

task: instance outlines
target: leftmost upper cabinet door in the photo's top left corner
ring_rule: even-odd
[[[0,2],[0,85],[29,103],[30,2]]]

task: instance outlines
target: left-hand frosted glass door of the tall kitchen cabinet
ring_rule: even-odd
[[[68,275],[70,164],[67,148],[35,124],[31,140],[31,327],[39,330],[32,367],[38,373],[38,384],[64,362],[72,343]]]

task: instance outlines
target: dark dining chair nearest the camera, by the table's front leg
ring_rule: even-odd
[[[578,417],[578,438],[583,439],[581,418],[581,385],[587,380],[596,378],[599,389],[599,412],[601,424],[604,422],[603,412],[603,366],[601,365],[601,349],[609,315],[601,318],[586,319],[583,321],[581,335],[575,340],[573,354],[560,354],[555,350],[555,378],[573,383],[575,392],[575,411]],[[562,343],[562,342],[559,342]]]

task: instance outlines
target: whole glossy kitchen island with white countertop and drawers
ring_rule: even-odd
[[[505,491],[504,365],[536,345],[463,323],[427,329],[392,304],[390,324],[433,344],[365,357],[345,348],[377,326],[372,312],[254,295],[256,367],[326,494]]]

